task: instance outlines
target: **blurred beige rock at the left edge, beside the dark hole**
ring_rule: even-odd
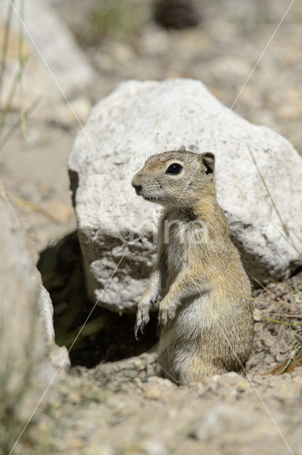
[[[62,362],[66,349],[53,343],[50,296],[41,283],[26,237],[1,183],[0,209],[0,377],[6,393],[14,397],[27,386],[28,380],[36,384],[38,378],[41,387],[51,379],[53,367],[48,353],[56,365]],[[7,383],[6,390],[7,373],[14,381]],[[35,390],[35,387],[31,390],[33,398]]]

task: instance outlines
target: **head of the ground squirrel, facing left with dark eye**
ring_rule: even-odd
[[[215,197],[215,156],[173,150],[152,155],[132,178],[136,194],[167,206],[193,207]]]

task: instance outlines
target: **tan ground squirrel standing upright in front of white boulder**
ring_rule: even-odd
[[[242,370],[252,348],[251,287],[216,200],[214,174],[212,153],[181,148],[150,156],[131,181],[136,194],[163,205],[135,335],[159,301],[158,360],[181,385]]]

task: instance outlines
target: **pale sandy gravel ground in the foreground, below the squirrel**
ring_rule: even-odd
[[[151,365],[141,355],[116,364],[115,373],[109,364],[74,370],[50,403],[62,422],[53,452],[302,454],[302,368],[277,377],[231,372],[178,387],[152,375]],[[47,416],[36,433],[45,427]]]

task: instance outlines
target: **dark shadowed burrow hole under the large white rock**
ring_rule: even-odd
[[[70,348],[95,304],[87,299],[77,233],[66,235],[44,250],[38,269],[53,301],[55,341]],[[134,314],[119,316],[96,306],[70,350],[71,364],[93,368],[102,362],[121,360],[151,349],[158,341],[156,314],[151,314],[140,341],[134,338],[134,323]]]

